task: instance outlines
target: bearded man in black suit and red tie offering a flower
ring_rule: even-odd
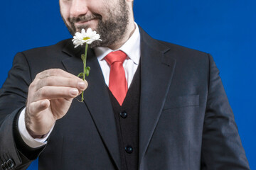
[[[101,35],[90,76],[76,77],[84,50],[71,40],[16,55],[0,93],[1,169],[37,157],[39,169],[250,169],[210,55],[149,37],[132,0],[60,0],[60,13],[72,35]]]

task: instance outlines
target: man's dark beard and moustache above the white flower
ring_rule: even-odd
[[[95,31],[100,34],[100,39],[102,41],[94,41],[89,45],[90,48],[93,47],[110,47],[114,43],[124,38],[127,32],[127,26],[129,24],[129,10],[125,1],[119,1],[119,6],[114,9],[107,10],[108,18],[103,21],[102,16],[98,13],[92,13],[91,15],[78,16],[73,18],[68,18],[68,23],[63,18],[65,26],[67,26],[71,35],[75,35],[76,32],[81,32],[82,28],[87,30],[89,26],[75,27],[76,22],[85,22],[92,19],[97,19],[97,27]]]

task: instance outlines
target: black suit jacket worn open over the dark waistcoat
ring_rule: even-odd
[[[250,169],[213,58],[140,33],[139,169]],[[26,169],[40,154],[39,169],[120,169],[110,97],[92,50],[85,102],[73,100],[45,147],[18,140],[17,116],[36,74],[60,68],[77,75],[81,53],[63,40],[16,55],[0,93],[1,164],[11,159]]]

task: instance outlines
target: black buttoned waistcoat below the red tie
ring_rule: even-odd
[[[140,66],[138,67],[132,84],[122,106],[109,90],[110,100],[117,126],[119,152],[122,170],[138,169],[139,164],[139,99],[140,99]]]

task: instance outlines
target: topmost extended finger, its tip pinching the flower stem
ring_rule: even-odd
[[[87,88],[87,81],[82,81],[82,79],[73,79],[67,77],[46,77],[44,79],[39,79],[36,82],[36,89],[41,89],[43,86],[67,86],[77,88],[80,91],[84,91]]]

